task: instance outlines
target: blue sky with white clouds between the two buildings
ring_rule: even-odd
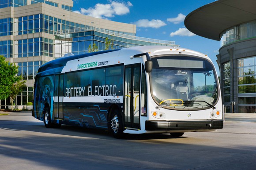
[[[217,73],[220,42],[197,36],[184,26],[185,17],[216,0],[73,0],[73,12],[136,24],[136,36],[175,41],[180,47],[207,54]]]

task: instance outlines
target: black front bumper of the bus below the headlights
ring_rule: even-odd
[[[146,121],[146,130],[211,130],[222,128],[223,120]]]

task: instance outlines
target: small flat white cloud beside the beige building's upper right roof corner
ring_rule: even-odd
[[[148,19],[140,19],[133,24],[136,24],[137,27],[143,28],[160,28],[166,25],[166,23],[161,21],[160,19],[152,19],[151,21],[149,21]]]

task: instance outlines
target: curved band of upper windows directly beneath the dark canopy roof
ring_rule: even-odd
[[[221,33],[221,47],[238,40],[256,37],[256,20],[235,25]]]

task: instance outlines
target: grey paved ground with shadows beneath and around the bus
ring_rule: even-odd
[[[0,116],[1,170],[255,170],[256,114],[226,114],[215,132],[127,135],[45,128],[31,112]]]

